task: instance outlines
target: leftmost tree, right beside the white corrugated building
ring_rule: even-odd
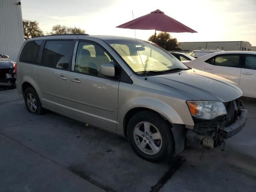
[[[44,35],[37,21],[23,20],[23,31],[25,40]]]

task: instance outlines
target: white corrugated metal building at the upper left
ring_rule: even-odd
[[[0,0],[0,54],[16,61],[23,42],[20,0]]]

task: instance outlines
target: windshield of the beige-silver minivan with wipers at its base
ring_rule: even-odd
[[[124,61],[136,73],[144,71],[164,72],[176,68],[188,69],[188,67],[174,56],[160,48],[142,40],[106,40]]]

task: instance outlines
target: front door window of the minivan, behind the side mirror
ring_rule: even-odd
[[[102,76],[100,74],[100,66],[109,63],[114,64],[110,56],[100,46],[88,42],[79,42],[75,71]]]

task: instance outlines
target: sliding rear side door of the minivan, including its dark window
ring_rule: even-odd
[[[75,40],[47,40],[42,66],[36,66],[36,82],[42,92],[42,105],[71,115],[68,79]]]

